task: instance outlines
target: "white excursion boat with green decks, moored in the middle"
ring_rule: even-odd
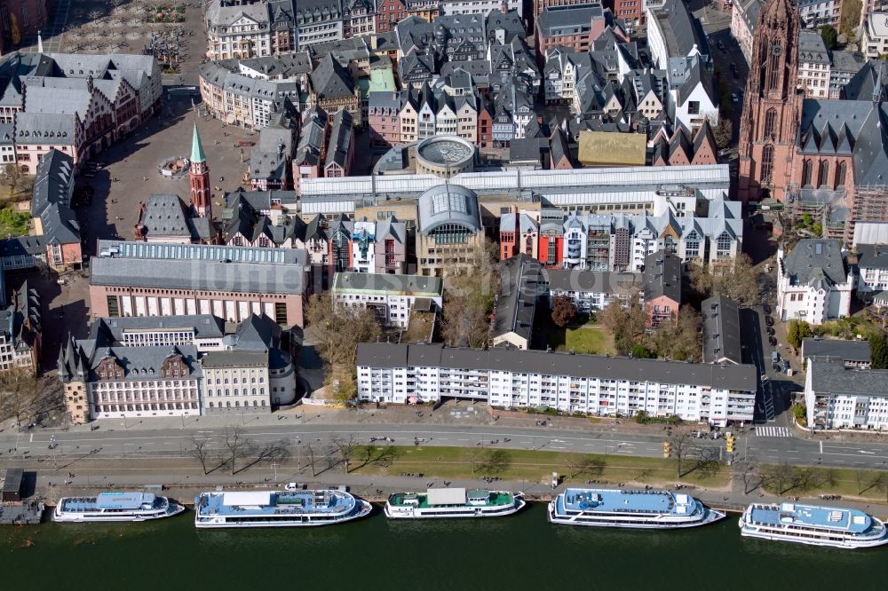
[[[430,488],[425,493],[392,494],[385,501],[385,516],[390,519],[500,517],[515,513],[526,504],[523,493]]]

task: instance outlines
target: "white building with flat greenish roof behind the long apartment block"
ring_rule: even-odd
[[[414,309],[442,309],[444,281],[425,275],[337,272],[332,292],[341,305],[370,308],[385,326],[407,328]]]

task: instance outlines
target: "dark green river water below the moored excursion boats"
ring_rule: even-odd
[[[741,538],[737,517],[672,532],[552,525],[519,515],[321,528],[146,524],[0,528],[4,589],[888,589],[888,547],[848,551]]]

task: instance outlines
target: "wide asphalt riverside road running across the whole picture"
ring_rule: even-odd
[[[89,458],[181,458],[189,455],[193,437],[210,440],[210,447],[221,448],[225,429],[201,429],[194,419],[186,419],[181,429],[100,429],[95,431],[36,431],[0,434],[0,463],[11,457],[54,458],[75,461]],[[248,421],[249,422],[249,421]],[[664,437],[652,434],[628,434],[615,431],[552,428],[515,428],[490,425],[428,424],[281,424],[243,427],[245,436],[258,445],[287,440],[290,445],[314,445],[319,449],[333,438],[354,436],[361,443],[370,437],[391,437],[395,445],[413,445],[419,437],[424,445],[472,446],[545,450],[555,452],[605,453],[657,457],[662,454]],[[497,443],[491,444],[492,441]],[[51,449],[50,444],[57,445]],[[724,450],[722,439],[699,439],[694,444]],[[12,453],[9,450],[15,450]],[[296,450],[294,450],[296,451]],[[724,453],[724,452],[722,452]],[[737,459],[796,465],[821,465],[833,468],[888,469],[888,444],[844,443],[830,439],[809,440],[799,437],[761,437],[755,431],[741,435]],[[726,459],[726,454],[723,456]]]

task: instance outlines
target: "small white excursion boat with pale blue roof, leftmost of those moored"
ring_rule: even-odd
[[[147,521],[178,515],[184,510],[182,505],[152,493],[108,492],[94,497],[62,497],[52,511],[52,521]]]

